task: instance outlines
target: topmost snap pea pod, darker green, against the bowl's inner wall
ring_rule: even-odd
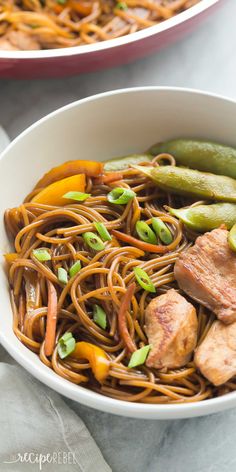
[[[153,156],[169,153],[174,156],[177,164],[236,179],[236,149],[223,144],[174,139],[155,144],[148,152]]]

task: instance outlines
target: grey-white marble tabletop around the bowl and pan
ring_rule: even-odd
[[[225,0],[190,37],[134,64],[69,79],[0,80],[0,123],[13,138],[64,104],[129,86],[193,87],[236,98],[235,18],[236,0]],[[1,349],[0,359],[6,358]],[[236,410],[161,422],[115,417],[67,401],[114,472],[236,471]]]

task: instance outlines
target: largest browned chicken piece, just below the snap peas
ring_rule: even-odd
[[[236,254],[227,237],[222,228],[199,236],[180,255],[174,273],[182,290],[228,324],[236,321]]]

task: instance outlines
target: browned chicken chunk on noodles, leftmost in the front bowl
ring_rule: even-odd
[[[175,369],[190,360],[197,342],[197,315],[193,305],[176,290],[168,290],[149,303],[145,324],[152,345],[148,367]]]

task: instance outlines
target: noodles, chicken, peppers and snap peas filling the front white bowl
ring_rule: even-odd
[[[235,175],[236,150],[182,139],[51,169],[5,212],[16,336],[119,400],[235,390]]]

